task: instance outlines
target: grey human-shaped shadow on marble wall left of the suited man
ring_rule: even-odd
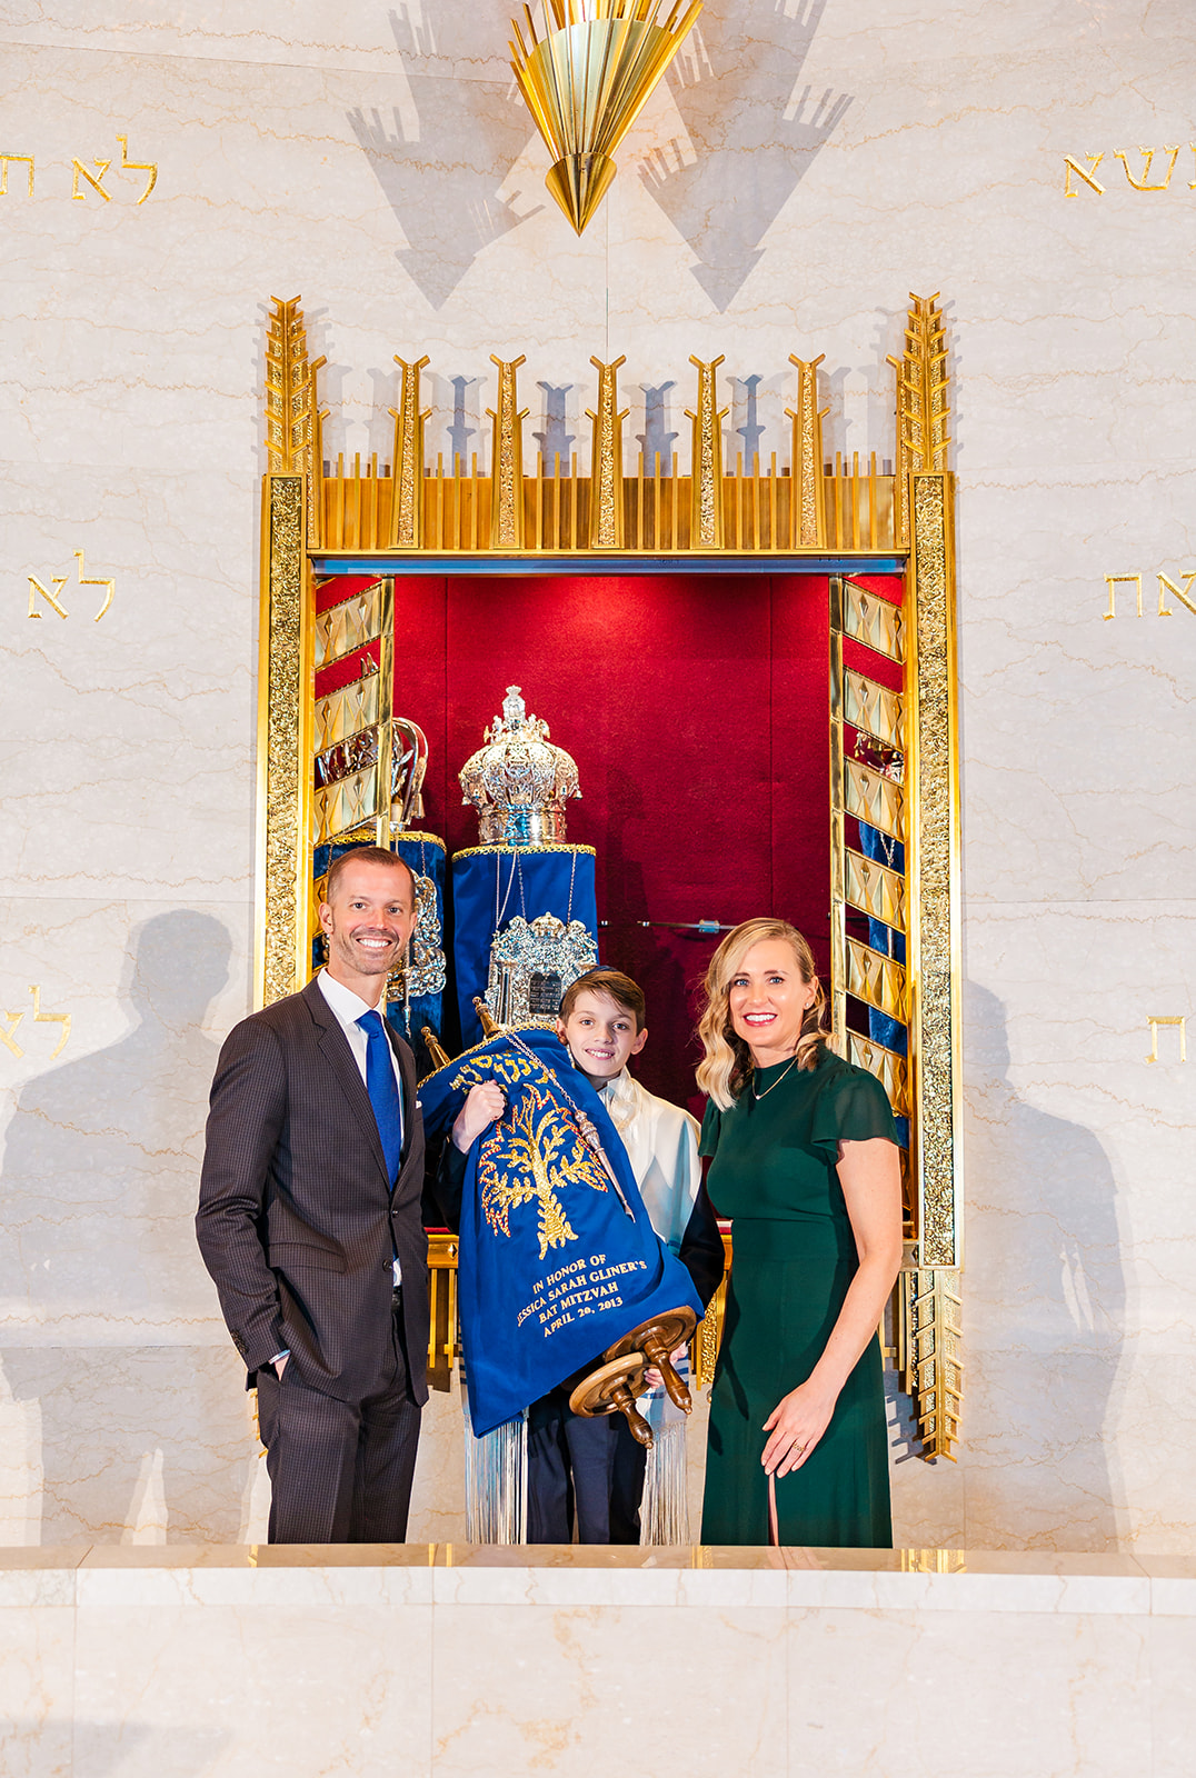
[[[133,1029],[30,1081],[0,1168],[12,1401],[41,1412],[41,1538],[235,1542],[253,1479],[237,1355],[194,1239],[206,1095],[201,1024],[231,941],[198,912],[132,935]],[[190,1332],[189,1332],[190,1325]],[[32,1444],[32,1440],[30,1440]]]

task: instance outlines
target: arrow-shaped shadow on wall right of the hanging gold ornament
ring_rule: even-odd
[[[655,153],[641,178],[698,254],[691,267],[723,313],[764,258],[760,242],[851,105],[851,94],[797,89],[826,0],[715,0],[678,52],[667,82],[689,133]]]

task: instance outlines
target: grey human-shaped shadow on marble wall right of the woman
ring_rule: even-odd
[[[1018,1097],[1004,1006],[975,983],[965,1033],[968,1543],[1112,1550],[1125,1342],[1112,1168],[1089,1129]]]

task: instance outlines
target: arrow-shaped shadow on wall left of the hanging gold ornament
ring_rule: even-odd
[[[543,210],[516,213],[498,196],[534,135],[530,117],[509,76],[486,80],[470,66],[507,59],[507,14],[475,0],[424,5],[424,23],[409,11],[390,14],[395,43],[415,101],[404,128],[395,105],[392,123],[381,112],[349,112],[349,124],[395,212],[409,245],[397,258],[434,309],[443,308],[473,260],[509,229]],[[468,62],[454,59],[470,44]],[[520,194],[516,192],[514,197]]]

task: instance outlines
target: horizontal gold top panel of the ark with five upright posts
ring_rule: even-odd
[[[493,354],[491,354],[493,357]],[[529,466],[523,453],[523,420],[516,372],[523,357],[498,366],[498,405],[493,421],[491,461],[486,468],[473,452],[465,462],[457,453],[445,464],[443,452],[425,462],[424,420],[418,409],[420,373],[429,359],[395,363],[402,373],[395,416],[395,448],[390,466],[377,455],[338,457],[327,477],[320,475],[320,546],[326,553],[486,555],[513,549],[525,555],[589,555],[701,551],[703,555],[801,555],[819,549],[885,553],[897,548],[897,485],[876,453],[860,459],[822,461],[817,366],[822,359],[794,359],[799,372],[799,420],[794,423],[792,459],[767,461],[753,453],[733,464],[723,461],[726,405],[717,400],[723,357],[692,359],[698,370],[692,420],[694,450],[683,464],[676,453],[634,462],[623,461],[616,372],[594,357],[600,373],[598,405],[591,411],[591,464],[577,453]],[[801,420],[813,402],[810,425]],[[817,425],[815,425],[817,421]],[[812,517],[812,514],[815,517]],[[619,542],[621,539],[621,542]],[[867,601],[867,594],[861,596]],[[870,608],[869,608],[870,613]],[[879,613],[883,615],[883,613]],[[861,622],[876,622],[870,613]]]

